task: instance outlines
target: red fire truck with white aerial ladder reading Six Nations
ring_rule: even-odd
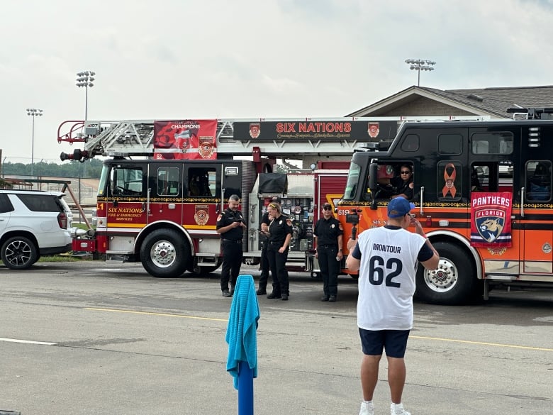
[[[392,140],[404,118],[279,120],[65,121],[58,143],[83,148],[62,160],[102,156],[97,225],[74,231],[73,249],[140,261],[155,277],[206,273],[220,266],[218,215],[238,194],[248,223],[245,262],[257,264],[259,222],[274,196],[292,218],[289,270],[318,272],[309,255],[323,202],[342,197],[353,150]],[[239,160],[248,156],[251,160]],[[274,172],[279,158],[307,169]]]

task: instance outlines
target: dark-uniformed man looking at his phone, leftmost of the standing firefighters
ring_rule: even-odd
[[[236,194],[228,198],[228,209],[217,218],[217,233],[220,233],[223,251],[223,268],[220,272],[220,289],[223,297],[231,297],[242,265],[242,236],[246,223],[238,210],[240,197]],[[230,282],[230,291],[228,283]]]

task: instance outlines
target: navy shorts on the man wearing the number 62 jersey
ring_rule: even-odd
[[[365,355],[377,356],[386,350],[389,358],[402,359],[407,348],[410,330],[365,330],[359,328],[361,345]]]

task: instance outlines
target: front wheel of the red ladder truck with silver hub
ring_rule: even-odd
[[[177,231],[156,229],[144,239],[140,259],[144,269],[153,277],[180,277],[189,267],[190,248]]]

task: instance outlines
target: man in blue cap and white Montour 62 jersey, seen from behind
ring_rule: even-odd
[[[440,256],[425,236],[423,226],[410,215],[415,205],[403,197],[388,204],[388,222],[367,229],[350,239],[346,266],[359,270],[357,326],[363,350],[361,386],[363,402],[359,415],[373,415],[372,402],[382,351],[388,360],[391,415],[410,415],[401,395],[406,378],[403,356],[413,328],[413,294],[417,264],[435,270]],[[415,226],[415,233],[406,231]]]

